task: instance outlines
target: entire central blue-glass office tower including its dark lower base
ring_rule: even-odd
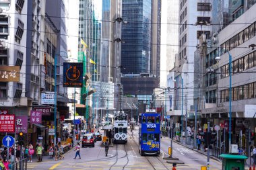
[[[124,93],[152,95],[160,77],[161,1],[123,0],[121,83]]]

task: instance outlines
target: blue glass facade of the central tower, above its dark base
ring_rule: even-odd
[[[151,73],[152,0],[123,0],[121,73]]]

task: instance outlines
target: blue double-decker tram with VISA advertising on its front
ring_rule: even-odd
[[[160,114],[139,114],[140,155],[160,155]]]

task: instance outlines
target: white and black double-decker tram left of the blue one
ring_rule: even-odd
[[[114,142],[127,144],[127,114],[117,113],[114,120]]]

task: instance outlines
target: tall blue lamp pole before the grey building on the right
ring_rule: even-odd
[[[229,56],[229,137],[228,137],[228,143],[230,146],[231,145],[231,117],[232,117],[232,113],[231,113],[231,100],[232,100],[232,56],[231,54],[228,52],[228,56]]]

